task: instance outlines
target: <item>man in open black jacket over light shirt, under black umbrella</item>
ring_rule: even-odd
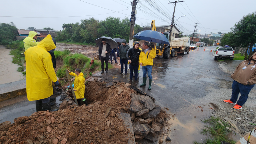
[[[106,43],[106,39],[102,39],[102,44],[99,46],[99,59],[101,60],[101,73],[104,73],[104,61],[106,63],[106,73],[108,73],[108,60],[111,52],[110,45]]]

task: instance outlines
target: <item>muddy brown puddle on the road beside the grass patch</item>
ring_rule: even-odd
[[[209,118],[211,110],[213,108],[210,104],[191,106],[168,120],[172,124],[171,133],[168,135],[172,139],[172,144],[193,144],[194,141],[202,143],[207,137],[200,134],[206,125],[201,120]]]

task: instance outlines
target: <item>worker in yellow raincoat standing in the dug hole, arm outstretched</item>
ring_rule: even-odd
[[[75,69],[75,73],[67,70],[70,75],[75,76],[75,81],[74,81],[74,87],[73,90],[75,92],[75,97],[77,98],[77,103],[78,105],[81,105],[81,100],[84,102],[84,104],[87,106],[88,103],[86,99],[84,98],[84,77],[83,73],[81,72],[81,69]]]

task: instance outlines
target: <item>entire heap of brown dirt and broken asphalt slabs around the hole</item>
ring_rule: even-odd
[[[139,95],[129,85],[91,77],[85,83],[88,106],[75,105],[68,91],[58,111],[39,111],[15,118],[13,124],[1,123],[0,144],[125,144],[143,138],[157,141],[163,127],[170,126],[165,121],[168,115],[153,98]],[[124,113],[128,124],[121,119]]]

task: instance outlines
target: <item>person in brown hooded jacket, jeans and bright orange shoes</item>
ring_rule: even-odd
[[[242,109],[248,94],[256,83],[256,52],[248,60],[242,61],[231,75],[233,81],[231,99],[223,100],[225,103],[235,105],[234,109]],[[237,103],[238,94],[241,94]]]

